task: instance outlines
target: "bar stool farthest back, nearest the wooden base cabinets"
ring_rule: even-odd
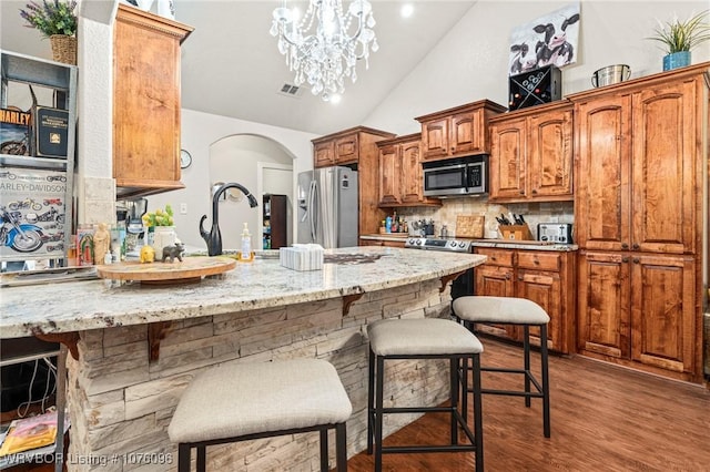
[[[518,325],[523,326],[523,352],[524,369],[507,369],[481,367],[481,371],[519,373],[524,376],[525,389],[519,390],[495,390],[483,389],[483,393],[504,394],[514,397],[525,397],[525,406],[530,407],[531,398],[542,399],[542,430],[545,438],[550,437],[550,390],[549,373],[547,365],[547,324],[550,321],[549,315],[535,301],[516,297],[485,297],[466,296],[459,297],[452,304],[454,316],[464,321],[468,329],[474,331],[475,322],[491,322],[496,325]],[[541,383],[530,371],[530,327],[537,326],[540,329],[540,373]],[[530,384],[535,386],[535,391]],[[466,390],[464,390],[466,391]],[[466,397],[462,402],[466,404]]]

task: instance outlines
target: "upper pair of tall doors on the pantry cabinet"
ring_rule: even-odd
[[[577,243],[587,249],[694,254],[707,158],[700,145],[708,102],[702,74],[696,68],[674,80],[572,100]]]

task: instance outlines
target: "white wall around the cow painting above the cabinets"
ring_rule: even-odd
[[[481,99],[507,105],[510,30],[570,3],[479,0],[363,124],[408,134],[420,131],[416,116]],[[687,19],[708,7],[707,0],[581,1],[578,60],[562,69],[562,94],[591,89],[591,74],[606,65],[628,64],[632,79],[661,72],[665,53],[645,39],[657,20]],[[703,61],[710,42],[692,50],[692,63]]]

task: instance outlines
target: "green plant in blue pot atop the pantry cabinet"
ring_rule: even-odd
[[[665,71],[690,65],[690,50],[710,39],[710,24],[706,20],[708,11],[701,11],[686,21],[678,18],[666,23],[659,21],[653,30],[656,34],[648,39],[663,44]]]

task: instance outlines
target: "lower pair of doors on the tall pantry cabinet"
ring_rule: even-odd
[[[692,376],[694,278],[692,256],[584,252],[579,352]]]

